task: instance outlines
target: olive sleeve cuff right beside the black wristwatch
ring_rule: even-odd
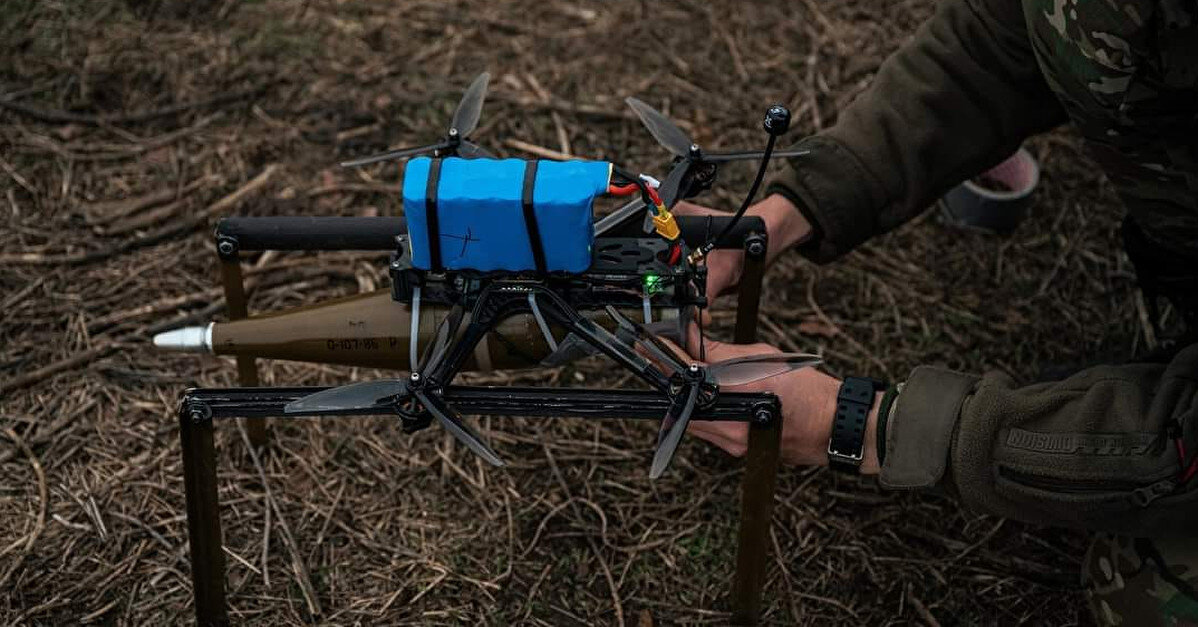
[[[957,416],[976,382],[976,376],[927,366],[910,373],[887,423],[883,488],[918,490],[940,482]]]

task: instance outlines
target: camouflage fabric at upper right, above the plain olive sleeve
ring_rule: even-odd
[[[1048,85],[1135,219],[1198,259],[1198,2],[1024,0]]]

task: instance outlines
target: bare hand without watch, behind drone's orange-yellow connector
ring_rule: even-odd
[[[702,205],[680,201],[673,207],[673,212],[679,216],[727,216],[727,212],[716,211]],[[750,206],[745,216],[760,216],[766,221],[766,235],[769,237],[769,246],[766,253],[766,263],[774,259],[811,235],[811,224],[803,217],[803,213],[793,203],[781,194],[772,194],[760,203]],[[713,234],[714,235],[714,234]],[[740,283],[740,273],[744,267],[745,254],[738,249],[716,249],[707,255],[707,296],[716,299],[731,293]]]

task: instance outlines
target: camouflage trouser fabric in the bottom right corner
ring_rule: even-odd
[[[1082,562],[1082,586],[1101,626],[1198,627],[1198,538],[1100,533]]]

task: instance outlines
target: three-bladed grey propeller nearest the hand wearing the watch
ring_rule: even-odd
[[[629,332],[633,342],[671,370],[671,400],[658,432],[657,452],[649,468],[649,478],[660,477],[673,459],[686,433],[695,406],[701,394],[714,394],[721,386],[748,385],[788,372],[817,366],[823,360],[803,352],[763,352],[746,357],[734,357],[706,367],[697,363],[683,364],[677,352],[661,342],[643,325],[629,320],[616,308],[607,307],[607,314],[621,328]]]

